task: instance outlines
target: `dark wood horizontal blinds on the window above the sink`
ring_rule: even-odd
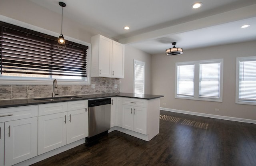
[[[1,73],[86,77],[88,46],[0,22]]]

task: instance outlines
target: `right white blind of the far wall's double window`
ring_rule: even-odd
[[[199,97],[220,98],[220,63],[200,64]]]

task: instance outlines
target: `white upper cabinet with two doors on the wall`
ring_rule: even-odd
[[[92,77],[124,78],[124,45],[101,35],[92,36]]]

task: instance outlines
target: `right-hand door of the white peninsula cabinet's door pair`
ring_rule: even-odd
[[[133,130],[142,134],[147,134],[147,109],[143,107],[133,108]]]

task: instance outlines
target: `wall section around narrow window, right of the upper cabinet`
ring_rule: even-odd
[[[125,46],[124,79],[121,79],[120,91],[133,93],[134,59],[145,62],[145,94],[151,94],[151,55],[139,49]],[[157,95],[156,93],[155,95]]]

